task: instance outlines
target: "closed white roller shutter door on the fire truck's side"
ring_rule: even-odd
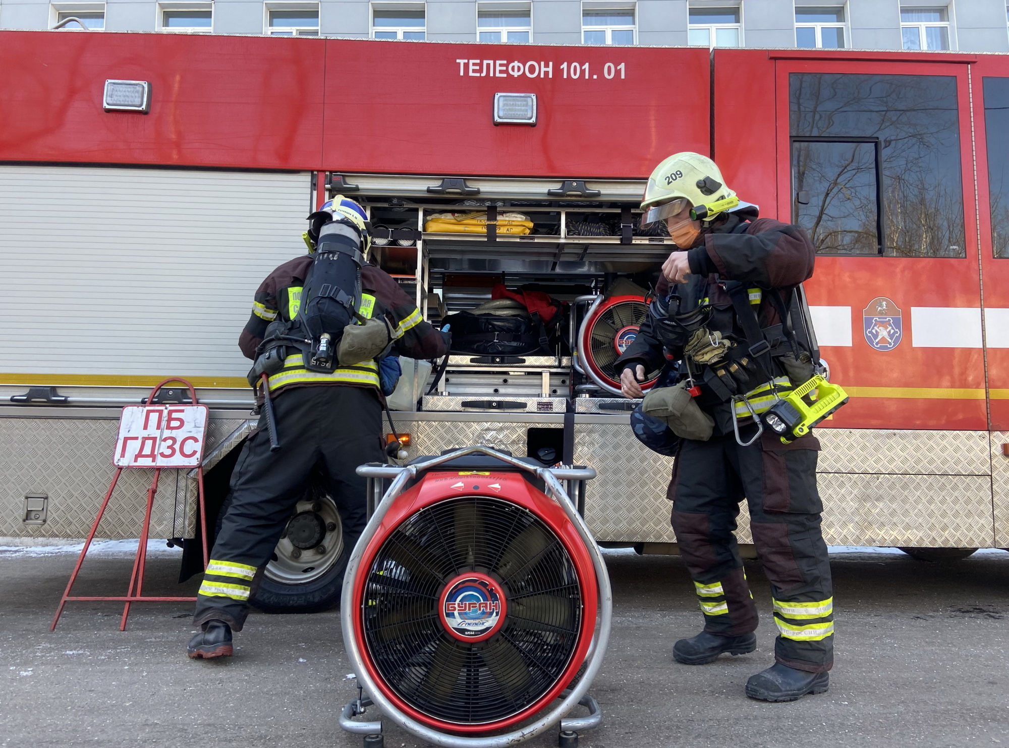
[[[308,173],[0,166],[0,382],[241,384],[252,294],[305,253],[310,201]]]

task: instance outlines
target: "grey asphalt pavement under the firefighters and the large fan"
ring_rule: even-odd
[[[114,549],[115,546],[113,546]],[[71,603],[49,620],[72,552],[0,550],[0,746],[342,748],[341,705],[353,697],[337,611],[253,613],[234,657],[190,660],[189,604]],[[612,638],[592,694],[603,726],[583,748],[624,746],[996,746],[1009,748],[1009,553],[940,564],[893,553],[834,553],[836,664],[830,690],[791,704],[747,699],[772,663],[774,625],[757,562],[758,649],[701,666],[672,661],[700,613],[678,557],[606,554]],[[149,558],[146,594],[176,584],[179,556]],[[122,594],[132,562],[89,555],[75,594]],[[370,716],[370,713],[369,713]],[[396,728],[386,748],[424,743]],[[527,745],[556,745],[548,734]]]

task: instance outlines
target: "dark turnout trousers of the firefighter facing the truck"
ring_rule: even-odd
[[[253,578],[269,560],[316,468],[340,511],[345,553],[366,524],[365,479],[355,469],[384,459],[377,394],[363,387],[295,387],[275,397],[273,411],[281,450],[269,451],[263,413],[231,474],[195,625],[217,619],[241,630]]]

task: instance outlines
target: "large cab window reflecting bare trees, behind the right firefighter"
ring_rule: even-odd
[[[796,73],[790,100],[794,220],[817,252],[967,256],[955,78]]]

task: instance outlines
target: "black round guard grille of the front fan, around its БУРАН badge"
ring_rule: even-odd
[[[439,597],[458,575],[496,580],[502,628],[463,642],[442,625]],[[379,677],[425,715],[459,725],[497,722],[542,698],[578,645],[582,591],[559,538],[528,509],[463,497],[425,507],[397,527],[368,570],[362,632]]]

